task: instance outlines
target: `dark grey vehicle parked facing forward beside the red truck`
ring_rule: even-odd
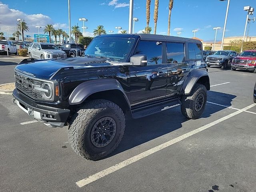
[[[207,56],[205,62],[208,67],[220,66],[222,69],[226,69],[228,66],[231,65],[232,59],[236,56],[237,54],[235,51],[217,51],[214,55]]]

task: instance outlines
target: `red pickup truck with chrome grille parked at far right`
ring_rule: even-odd
[[[232,60],[231,70],[237,69],[252,70],[256,73],[256,50],[243,51]]]

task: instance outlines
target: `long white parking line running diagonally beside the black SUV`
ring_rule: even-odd
[[[132,164],[132,163],[134,163],[134,162],[144,158],[144,157],[147,157],[147,156],[149,156],[149,155],[151,155],[151,154],[153,154],[155,152],[158,152],[158,151],[160,151],[160,150],[162,150],[162,149],[164,149],[164,148],[166,148],[168,146],[171,146],[171,145],[173,145],[173,144],[175,144],[175,143],[177,143],[179,141],[182,141],[182,140],[184,140],[184,139],[186,139],[186,138],[188,138],[188,137],[190,137],[190,136],[192,136],[194,134],[197,134],[197,133],[199,133],[199,132],[201,132],[203,130],[206,130],[206,129],[208,129],[208,128],[210,128],[210,127],[212,127],[212,126],[214,126],[214,125],[216,125],[216,124],[218,124],[218,123],[220,123],[220,122],[222,122],[224,120],[227,120],[227,119],[229,119],[229,118],[231,118],[231,117],[233,117],[233,116],[235,116],[237,114],[240,114],[240,113],[242,113],[242,112],[244,112],[244,111],[246,111],[246,110],[248,110],[248,109],[250,109],[250,108],[252,108],[254,106],[256,106],[255,103],[251,104],[251,105],[249,105],[249,106],[247,106],[247,107],[245,107],[243,109],[240,109],[240,110],[238,110],[238,111],[236,111],[234,113],[231,113],[231,114],[229,114],[227,116],[224,116],[224,117],[222,117],[222,118],[220,118],[220,119],[218,119],[218,120],[216,120],[214,122],[211,122],[211,123],[209,123],[209,124],[207,124],[205,126],[197,128],[195,130],[192,130],[192,131],[190,131],[190,132],[188,132],[188,133],[186,133],[184,135],[181,135],[181,136],[179,136],[179,137],[177,137],[175,139],[172,139],[172,140],[170,140],[168,142],[165,142],[165,143],[163,143],[161,145],[158,145],[158,146],[156,146],[154,148],[151,148],[150,150],[142,152],[142,153],[140,153],[140,154],[138,154],[136,156],[133,156],[133,157],[127,159],[127,160],[124,160],[124,161],[122,161],[122,162],[120,162],[118,164],[115,164],[114,166],[111,166],[111,167],[109,167],[109,168],[107,168],[105,170],[102,170],[102,171],[100,171],[100,172],[98,172],[96,174],[88,176],[87,178],[84,178],[84,179],[76,182],[76,185],[78,187],[83,187],[83,186],[85,186],[87,184],[90,184],[91,182],[94,182],[94,181],[96,181],[96,180],[98,180],[98,179],[100,179],[100,178],[102,178],[104,176],[107,176],[108,174],[111,174],[111,173],[113,173],[113,172],[115,172],[115,171],[117,171],[117,170],[119,170],[121,168],[124,168],[124,167],[126,167],[126,166],[128,166],[128,165],[130,165],[130,164]]]

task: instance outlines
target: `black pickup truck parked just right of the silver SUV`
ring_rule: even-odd
[[[84,46],[82,44],[67,43],[59,46],[60,50],[66,52],[68,57],[82,56],[84,54]],[[77,52],[77,55],[76,55]]]

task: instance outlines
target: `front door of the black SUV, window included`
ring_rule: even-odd
[[[148,64],[129,67],[131,105],[165,98],[167,66],[162,64],[162,44],[140,41],[135,54],[146,55]]]

